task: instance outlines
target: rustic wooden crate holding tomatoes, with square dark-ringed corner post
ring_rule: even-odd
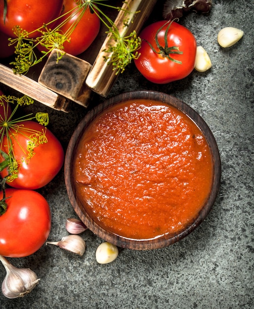
[[[156,0],[113,2],[114,6],[122,6],[123,10],[118,12],[111,9],[106,13],[115,20],[120,34],[127,36],[133,30],[139,33]],[[127,26],[124,25],[126,9],[130,12],[139,11],[128,16]],[[87,107],[91,92],[107,96],[117,75],[112,65],[104,60],[104,56],[110,56],[103,52],[110,42],[110,37],[106,34],[108,29],[101,24],[99,35],[79,57],[64,54],[57,64],[57,50],[54,50],[45,62],[31,68],[26,76],[14,74],[6,63],[0,64],[0,82],[46,106],[64,112],[71,110],[72,102]]]

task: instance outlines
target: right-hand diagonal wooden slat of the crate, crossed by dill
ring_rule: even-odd
[[[146,18],[150,15],[156,0],[127,0],[122,6],[116,20],[115,25],[119,30],[122,37],[128,36],[134,30],[138,34],[141,27],[143,26]],[[125,25],[126,10],[132,12],[129,14],[128,26]],[[134,12],[139,13],[134,14]],[[102,96],[107,96],[109,91],[114,85],[117,78],[116,73],[113,71],[113,66],[108,64],[109,61],[105,62],[104,56],[110,56],[109,53],[105,53],[103,50],[107,49],[108,44],[112,43],[111,36],[108,35],[101,49],[98,53],[97,58],[86,78],[86,84],[95,92]]]

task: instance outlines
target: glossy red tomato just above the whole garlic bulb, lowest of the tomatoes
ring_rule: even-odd
[[[2,199],[0,192],[0,199]],[[0,216],[0,255],[21,258],[39,250],[51,229],[45,198],[33,190],[5,190],[6,212]]]

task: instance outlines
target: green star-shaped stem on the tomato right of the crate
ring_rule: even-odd
[[[173,59],[170,54],[177,54],[177,55],[182,55],[183,52],[179,50],[178,46],[168,46],[168,33],[169,33],[169,27],[171,26],[173,21],[168,21],[166,22],[162,27],[160,27],[155,35],[155,42],[156,42],[156,46],[159,49],[159,51],[157,51],[150,42],[148,42],[146,39],[144,39],[145,42],[147,42],[150,46],[150,48],[153,50],[153,52],[162,55],[163,57],[167,57],[169,60],[178,63],[178,64],[182,64],[181,61]],[[160,31],[167,25],[167,29],[165,31],[165,35],[164,35],[164,42],[165,42],[165,47],[163,47],[160,43],[159,43],[159,39],[158,39],[158,35],[160,33]]]

